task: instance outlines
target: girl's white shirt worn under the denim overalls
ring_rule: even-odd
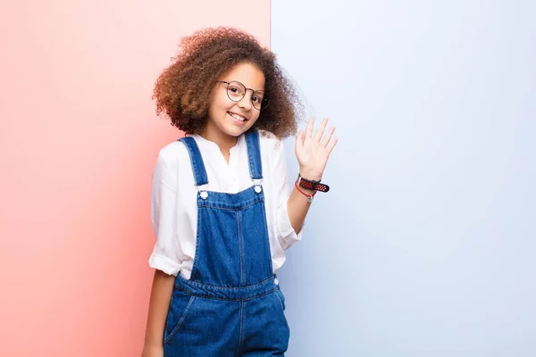
[[[198,135],[208,176],[208,191],[236,194],[252,186],[244,135],[230,149],[229,164],[218,145]],[[263,188],[268,237],[275,273],[285,262],[285,250],[301,240],[301,231],[292,228],[287,212],[290,195],[287,162],[281,140],[260,135]],[[158,154],[153,171],[151,219],[156,244],[149,265],[157,270],[190,278],[197,237],[197,187],[188,150],[180,142],[166,145]]]

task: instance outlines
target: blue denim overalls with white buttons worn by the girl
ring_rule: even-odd
[[[252,186],[238,194],[206,191],[196,141],[180,141],[188,148],[198,190],[197,243],[191,278],[175,279],[164,356],[282,356],[289,326],[272,272],[259,134],[246,134]]]

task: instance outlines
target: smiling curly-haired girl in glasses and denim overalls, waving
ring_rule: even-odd
[[[275,272],[337,139],[314,120],[296,139],[290,192],[281,138],[300,104],[275,55],[237,29],[182,39],[155,84],[158,113],[186,137],[153,173],[155,268],[143,356],[282,356],[289,344]]]

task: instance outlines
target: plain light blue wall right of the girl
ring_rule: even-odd
[[[339,137],[289,356],[536,356],[536,2],[274,0],[272,50]]]

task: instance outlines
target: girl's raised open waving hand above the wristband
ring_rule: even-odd
[[[327,125],[328,119],[324,118],[313,135],[314,118],[311,118],[307,123],[305,133],[303,129],[300,129],[297,134],[295,152],[299,163],[299,173],[305,179],[318,181],[322,178],[331,151],[337,144],[337,138],[331,140],[335,131],[334,127],[331,127],[324,136]]]

